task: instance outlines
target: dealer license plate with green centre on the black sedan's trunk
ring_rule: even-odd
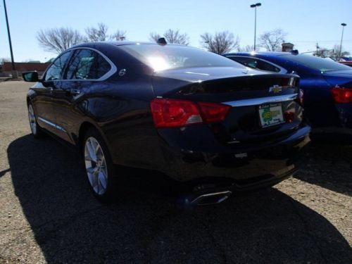
[[[259,106],[260,125],[270,127],[284,122],[281,103],[270,103]]]

